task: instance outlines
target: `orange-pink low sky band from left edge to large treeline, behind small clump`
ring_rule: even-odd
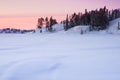
[[[45,16],[41,16],[45,18]],[[4,17],[0,19],[0,29],[3,28],[16,28],[16,29],[36,29],[37,28],[37,17]],[[48,16],[50,18],[50,16]],[[58,22],[65,19],[65,16],[53,16]]]

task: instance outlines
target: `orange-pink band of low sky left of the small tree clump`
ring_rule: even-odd
[[[34,29],[37,19],[33,17],[16,17],[0,19],[0,28],[16,28],[16,29]]]

